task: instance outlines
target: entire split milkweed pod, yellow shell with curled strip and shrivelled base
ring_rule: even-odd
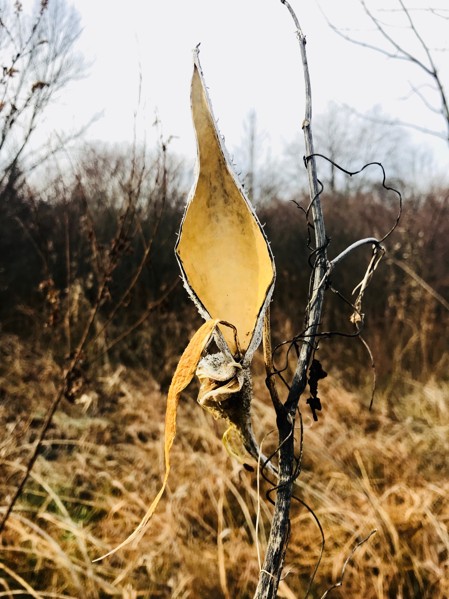
[[[198,50],[191,100],[198,156],[175,250],[184,286],[207,322],[184,350],[168,392],[162,488],[134,533],[107,555],[144,530],[162,497],[176,434],[178,400],[195,372],[201,383],[198,403],[215,418],[227,420],[225,444],[226,434],[234,429],[250,455],[257,459],[259,453],[251,425],[249,365],[262,339],[263,318],[274,286],[274,261],[217,128]],[[220,352],[204,356],[212,337]]]

